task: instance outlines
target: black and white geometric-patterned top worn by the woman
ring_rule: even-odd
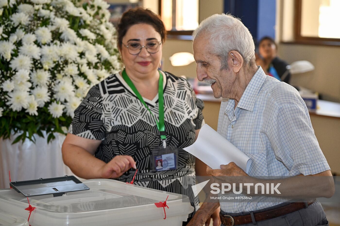
[[[179,149],[178,169],[152,172],[151,152],[162,146],[155,119],[118,73],[90,89],[74,112],[69,133],[102,140],[95,156],[106,163],[117,155],[131,155],[138,168],[134,184],[183,193],[194,183],[183,182],[182,177],[195,175],[195,157],[182,148],[194,142],[195,130],[204,124],[204,105],[186,79],[162,73],[166,143]],[[144,100],[158,120],[158,95]],[[117,180],[130,182],[134,173],[131,169]],[[193,202],[194,197],[189,197]]]

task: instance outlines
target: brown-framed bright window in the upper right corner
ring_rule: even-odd
[[[340,1],[296,0],[295,41],[340,45]]]

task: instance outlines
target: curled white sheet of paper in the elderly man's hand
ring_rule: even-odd
[[[199,158],[212,169],[221,169],[220,165],[234,162],[244,172],[248,173],[252,163],[250,157],[207,124],[202,126],[195,143],[183,149]]]

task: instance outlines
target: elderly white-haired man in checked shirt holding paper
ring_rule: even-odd
[[[254,50],[248,29],[230,15],[210,16],[193,33],[197,77],[211,83],[215,98],[225,98],[218,132],[252,159],[248,174],[233,162],[221,165],[221,169],[207,167],[207,173],[248,178],[243,183],[266,182],[260,176],[286,176],[280,185],[280,197],[331,197],[334,181],[303,99],[287,83],[266,76],[256,66]],[[320,175],[329,180],[303,180]],[[289,199],[273,198],[220,201],[222,224],[328,225],[315,199],[291,203],[285,202]],[[202,225],[206,215],[217,207],[204,203],[191,225]]]

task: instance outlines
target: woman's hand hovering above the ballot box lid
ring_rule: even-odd
[[[118,155],[103,165],[99,171],[101,178],[117,178],[130,168],[136,169],[136,162],[129,155]]]

